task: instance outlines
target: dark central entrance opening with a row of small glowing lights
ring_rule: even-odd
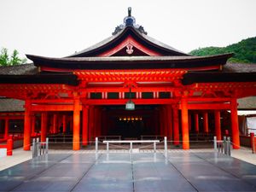
[[[124,106],[109,106],[107,135],[122,139],[141,139],[143,136],[159,135],[160,125],[157,115],[158,105],[139,105],[135,110],[125,110]]]

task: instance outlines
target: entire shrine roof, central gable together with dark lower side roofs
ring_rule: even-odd
[[[130,45],[134,49],[129,53],[127,49]],[[136,51],[137,55],[134,54]],[[124,24],[116,28],[112,37],[79,53],[64,58],[26,56],[33,61],[33,65],[0,67],[0,84],[77,85],[79,79],[73,74],[77,70],[168,68],[188,71],[183,76],[183,84],[256,81],[256,65],[226,64],[232,54],[192,56],[149,38],[143,26],[135,23],[131,12],[125,17]]]

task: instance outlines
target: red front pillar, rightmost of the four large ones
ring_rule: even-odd
[[[240,138],[239,138],[239,127],[238,127],[238,117],[237,117],[237,102],[236,98],[232,98],[230,102],[230,115],[231,115],[231,130],[232,130],[232,142],[233,148],[240,148]]]

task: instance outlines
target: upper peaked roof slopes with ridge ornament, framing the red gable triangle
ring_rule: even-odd
[[[150,38],[148,33],[144,31],[143,26],[136,24],[136,19],[131,16],[131,8],[128,8],[128,16],[125,17],[124,23],[117,26],[112,35],[113,36],[110,38],[106,38],[98,44],[95,44],[87,49],[81,50],[67,57],[99,56],[109,49],[114,49],[129,37],[135,39],[138,44],[142,44],[144,47],[154,50],[157,55],[188,55],[182,51],[172,48],[169,45],[163,44],[154,38]]]

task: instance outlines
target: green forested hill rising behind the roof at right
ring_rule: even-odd
[[[241,40],[237,44],[230,44],[227,47],[206,47],[190,51],[190,55],[218,55],[234,53],[229,62],[256,63],[256,37]]]

